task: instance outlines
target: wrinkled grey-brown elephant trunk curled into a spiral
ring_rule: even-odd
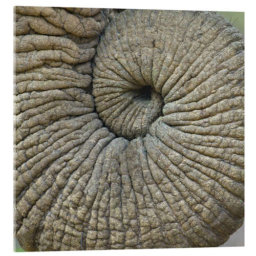
[[[244,217],[238,30],[212,12],[15,11],[15,235],[22,247],[227,241]]]

